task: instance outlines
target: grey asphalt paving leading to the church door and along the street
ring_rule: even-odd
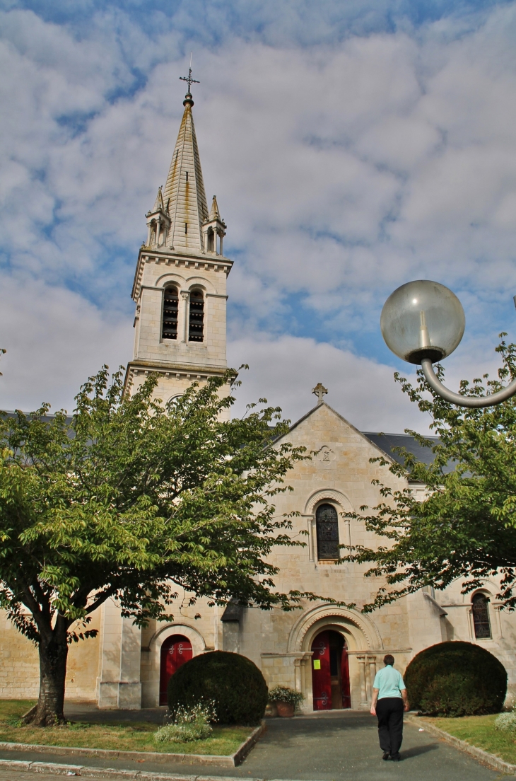
[[[82,711],[69,706],[69,718],[121,722],[160,722],[163,709],[144,711]],[[85,712],[90,711],[90,712]],[[376,719],[358,711],[329,711],[317,716],[295,719],[267,719],[267,732],[240,767],[227,768],[193,763],[63,757],[55,754],[2,751],[5,759],[56,761],[67,764],[95,765],[142,772],[167,772],[192,776],[233,776],[249,779],[300,779],[300,781],[495,781],[502,774],[480,765],[475,759],[442,741],[406,724],[400,763],[383,761],[378,747]],[[507,776],[506,776],[507,777]],[[45,779],[62,779],[49,776]],[[34,774],[0,771],[0,781],[34,781]]]

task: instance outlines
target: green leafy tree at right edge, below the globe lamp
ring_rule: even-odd
[[[500,334],[504,337],[505,334]],[[461,382],[461,393],[484,395],[500,390],[516,376],[516,346],[501,341],[496,351],[502,366],[498,379]],[[443,379],[443,369],[438,367]],[[491,576],[501,575],[499,598],[504,607],[516,607],[516,401],[494,407],[459,408],[431,394],[421,371],[417,386],[395,375],[404,393],[422,412],[432,416],[435,440],[407,430],[431,448],[430,465],[397,448],[404,465],[381,462],[390,473],[424,483],[425,501],[410,488],[393,490],[379,484],[383,501],[372,512],[362,507],[351,517],[364,518],[368,530],[386,538],[377,549],[355,547],[346,558],[372,564],[368,576],[380,576],[386,586],[365,611],[431,585],[442,590],[462,580],[467,594]],[[486,387],[484,387],[484,384]]]

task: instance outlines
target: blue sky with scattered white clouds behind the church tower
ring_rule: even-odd
[[[228,226],[237,413],[326,401],[425,431],[379,330],[400,284],[466,314],[447,384],[514,337],[516,2],[0,0],[0,407],[73,409],[132,358],[144,214],[193,52],[208,201]]]

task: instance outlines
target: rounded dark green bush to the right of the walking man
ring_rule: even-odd
[[[404,676],[411,708],[425,715],[499,713],[507,694],[507,671],[485,648],[448,641],[425,648]]]

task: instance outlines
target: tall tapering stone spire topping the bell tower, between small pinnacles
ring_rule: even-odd
[[[192,116],[194,101],[190,92],[185,96],[183,105],[180,132],[162,194],[171,223],[166,244],[176,250],[202,252],[202,224],[208,218],[208,205]]]

